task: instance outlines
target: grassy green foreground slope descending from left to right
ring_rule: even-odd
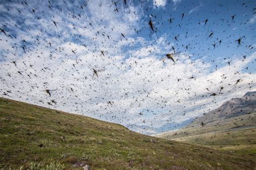
[[[0,98],[2,169],[253,169],[232,153]]]

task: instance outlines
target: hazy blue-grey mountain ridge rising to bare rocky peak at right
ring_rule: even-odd
[[[199,118],[191,118],[180,123],[172,122],[167,123],[158,128],[153,128],[145,125],[134,125],[128,124],[127,128],[130,130],[147,134],[154,135],[162,132],[173,131],[181,129],[185,126],[201,124],[202,122],[207,123],[208,121],[213,121],[215,119],[223,119],[228,117],[234,117],[241,114],[246,114],[253,112],[256,107],[256,92],[247,92],[242,98],[233,98],[229,101],[226,101],[223,105],[218,107],[217,109],[204,114],[204,116]]]

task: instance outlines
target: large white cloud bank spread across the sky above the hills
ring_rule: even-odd
[[[48,2],[44,3],[41,6],[47,6]],[[157,4],[163,7],[166,1]],[[9,98],[123,125],[158,127],[196,117],[231,97],[240,97],[250,86],[256,90],[255,73],[244,72],[255,60],[255,53],[243,62],[242,56],[234,57],[231,65],[217,70],[213,70],[215,64],[223,63],[192,60],[187,53],[175,57],[177,64],[168,59],[163,62],[173,44],[165,45],[165,36],[151,40],[137,36],[134,28],[139,28],[141,16],[134,12],[142,11],[135,6],[129,6],[130,13],[123,8],[115,12],[113,6],[109,8],[113,4],[92,1],[87,4],[93,7],[88,7],[89,11],[76,9],[81,17],[72,12],[67,17],[63,8],[57,10],[58,15],[42,9],[44,15],[36,19],[27,8],[13,5],[10,7],[19,6],[22,12],[12,15],[26,20],[18,28],[7,25],[16,31],[16,38],[0,35],[0,94],[11,91]],[[74,5],[67,2],[66,6]],[[9,23],[17,22],[10,19]],[[19,44],[23,39],[28,42],[26,53]],[[17,67],[11,63],[14,60]],[[105,71],[92,79],[92,69]],[[196,79],[190,79],[192,76]],[[242,81],[236,85],[237,79]],[[224,87],[223,94],[210,97],[219,93],[220,86]],[[44,89],[57,91],[50,97]],[[48,105],[51,100],[57,104]]]

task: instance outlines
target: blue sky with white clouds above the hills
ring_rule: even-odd
[[[256,90],[255,8],[0,1],[0,95],[157,133]]]

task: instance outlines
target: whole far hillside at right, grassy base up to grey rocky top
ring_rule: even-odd
[[[156,137],[232,151],[238,155],[256,155],[256,92],[226,101],[217,109],[195,119],[177,131]]]

